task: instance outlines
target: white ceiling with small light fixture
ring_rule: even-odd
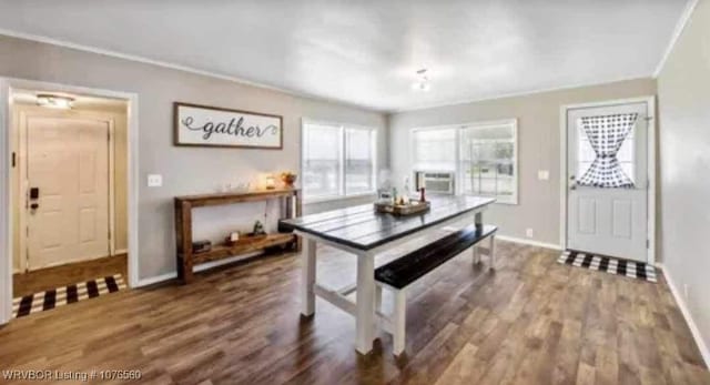
[[[650,77],[687,2],[0,0],[0,30],[397,111]]]

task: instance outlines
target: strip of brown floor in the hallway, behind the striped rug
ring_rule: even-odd
[[[18,273],[12,275],[12,296],[17,298],[113,274],[122,274],[128,282],[126,273],[125,254]]]

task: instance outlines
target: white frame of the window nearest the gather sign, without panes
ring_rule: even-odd
[[[328,194],[328,195],[311,195],[308,196],[306,194],[305,191],[305,173],[304,173],[304,166],[306,163],[306,135],[304,134],[306,131],[306,125],[310,124],[314,124],[314,125],[325,125],[325,126],[333,126],[334,129],[336,129],[338,131],[338,145],[339,145],[339,158],[338,158],[338,170],[339,170],[339,176],[338,176],[338,181],[337,181],[337,190],[338,192],[336,194]],[[362,192],[357,192],[357,193],[348,193],[347,192],[347,185],[346,185],[346,180],[347,180],[347,175],[345,173],[346,171],[346,162],[347,162],[347,135],[346,135],[346,131],[347,130],[361,130],[361,131],[367,131],[371,134],[371,150],[372,150],[372,191],[362,191]],[[377,193],[377,128],[374,126],[367,126],[367,125],[361,125],[361,124],[353,124],[353,123],[341,123],[341,122],[334,122],[334,121],[326,121],[326,120],[316,120],[316,119],[308,119],[308,118],[303,118],[301,120],[301,165],[300,165],[300,171],[301,171],[301,175],[302,175],[302,191],[303,191],[303,201],[304,203],[318,203],[318,202],[329,202],[329,201],[338,201],[338,200],[346,200],[346,199],[352,199],[352,197],[357,197],[357,196],[368,196],[368,195],[375,195]]]

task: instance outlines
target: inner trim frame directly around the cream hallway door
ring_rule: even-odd
[[[106,123],[109,130],[109,232],[111,233],[111,237],[109,239],[109,255],[115,255],[115,124],[112,116],[104,115],[101,116],[101,113],[87,113],[84,111],[75,111],[77,113],[72,113],[71,115],[62,115],[58,113],[55,110],[48,110],[47,113],[42,112],[28,112],[20,111],[20,120],[18,122],[17,129],[19,130],[18,134],[20,138],[19,148],[16,149],[18,153],[18,159],[22,159],[22,154],[29,156],[27,140],[28,140],[28,119],[32,116],[39,118],[54,118],[54,119],[81,119],[81,120],[91,120],[97,122]],[[12,118],[12,116],[11,116]],[[20,229],[26,229],[28,226],[28,212],[27,206],[29,202],[27,202],[28,193],[27,189],[27,162],[20,162],[19,164],[19,178],[20,178],[20,196],[18,196],[17,201],[20,203]],[[24,209],[22,209],[24,207]],[[24,272],[28,269],[28,234],[27,232],[20,232],[20,271]]]

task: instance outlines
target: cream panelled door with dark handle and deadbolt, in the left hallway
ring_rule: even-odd
[[[109,255],[109,123],[27,121],[28,270]]]

